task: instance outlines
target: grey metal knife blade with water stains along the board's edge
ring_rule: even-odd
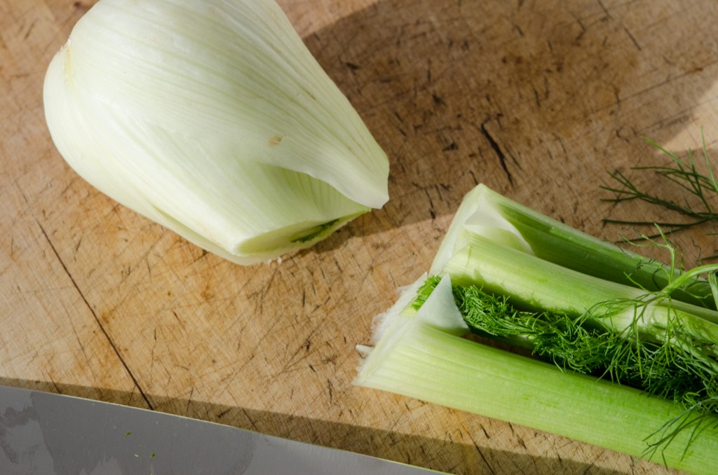
[[[0,474],[439,473],[152,410],[0,385]]]

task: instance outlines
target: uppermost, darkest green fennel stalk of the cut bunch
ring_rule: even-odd
[[[467,193],[462,201],[429,273],[442,270],[461,247],[464,231],[485,235],[589,276],[646,291],[658,291],[681,274],[673,256],[671,265],[665,265],[633,253],[531,210],[483,184]],[[693,278],[673,291],[672,296],[690,304],[716,308],[709,283],[703,278]]]

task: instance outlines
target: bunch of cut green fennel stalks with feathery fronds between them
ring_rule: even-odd
[[[378,317],[356,382],[711,473],[718,312],[687,301],[707,302],[696,276],[715,271],[625,253],[479,185],[429,275]]]

